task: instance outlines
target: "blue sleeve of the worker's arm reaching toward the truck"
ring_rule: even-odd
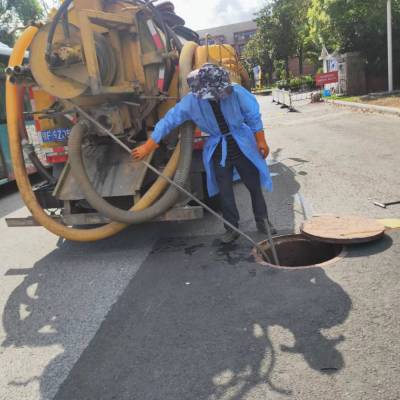
[[[171,108],[156,124],[151,138],[156,142],[160,141],[168,136],[175,128],[182,125],[184,122],[191,119],[190,113],[191,98],[189,95],[182,98],[182,100],[176,104],[175,107]]]

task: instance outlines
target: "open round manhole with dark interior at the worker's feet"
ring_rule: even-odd
[[[327,262],[336,261],[343,252],[343,245],[318,242],[304,235],[278,236],[274,239],[281,267],[301,268],[321,266]],[[268,241],[261,242],[270,260],[273,260]],[[266,261],[262,259],[265,263]],[[274,264],[268,263],[274,266]]]

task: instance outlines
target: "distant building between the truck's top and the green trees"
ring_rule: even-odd
[[[230,44],[235,47],[239,55],[242,55],[246,44],[256,32],[257,25],[254,21],[239,22],[197,31],[200,35],[201,44],[205,44],[206,36],[208,35],[209,44]]]

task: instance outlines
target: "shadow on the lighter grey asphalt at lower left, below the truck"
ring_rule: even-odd
[[[0,352],[16,348],[15,357],[21,357],[18,348],[43,348],[43,358],[33,350],[32,359],[22,360],[39,372],[41,363],[51,359],[44,372],[34,377],[40,382],[43,399],[54,396],[110,305],[147,257],[154,234],[154,227],[141,227],[97,243],[60,241],[56,250],[31,268],[9,266],[5,275],[11,279],[22,276],[23,281],[3,310],[6,336]],[[18,359],[10,365],[10,376],[21,378],[10,379],[9,386],[29,384],[31,375],[25,378],[17,370],[20,364]],[[15,395],[15,389],[11,390]]]

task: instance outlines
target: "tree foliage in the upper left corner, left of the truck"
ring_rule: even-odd
[[[43,17],[38,0],[0,0],[0,41],[12,46],[15,29]]]

